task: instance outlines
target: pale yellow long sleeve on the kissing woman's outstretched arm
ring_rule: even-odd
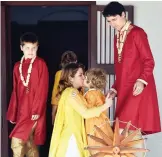
[[[69,96],[68,103],[85,119],[99,117],[100,114],[108,108],[107,106],[102,105],[88,109],[85,102],[76,93],[72,93],[72,95]],[[110,100],[110,104],[111,103],[112,100]]]

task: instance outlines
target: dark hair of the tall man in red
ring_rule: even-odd
[[[107,4],[103,11],[103,16],[116,16],[116,15],[122,15],[122,12],[125,12],[125,8],[122,4],[119,2],[113,1]]]

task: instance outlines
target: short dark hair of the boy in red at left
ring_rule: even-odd
[[[26,32],[20,37],[20,44],[23,46],[24,42],[38,43],[38,37],[32,32]]]

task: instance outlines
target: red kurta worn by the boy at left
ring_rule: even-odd
[[[24,60],[22,64],[23,76],[27,76],[30,59]],[[20,79],[20,62],[17,62],[13,70],[13,91],[7,112],[7,120],[16,122],[16,126],[10,134],[24,141],[28,140],[35,121],[32,115],[40,115],[34,134],[34,142],[42,145],[46,136],[46,101],[48,95],[48,69],[46,63],[36,57],[32,64],[32,72],[29,80],[29,93]]]

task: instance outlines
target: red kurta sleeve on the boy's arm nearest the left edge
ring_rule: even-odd
[[[11,99],[7,111],[7,120],[16,122],[16,115],[17,115],[17,79],[16,79],[16,65],[14,66],[13,70],[13,90],[11,94]]]

